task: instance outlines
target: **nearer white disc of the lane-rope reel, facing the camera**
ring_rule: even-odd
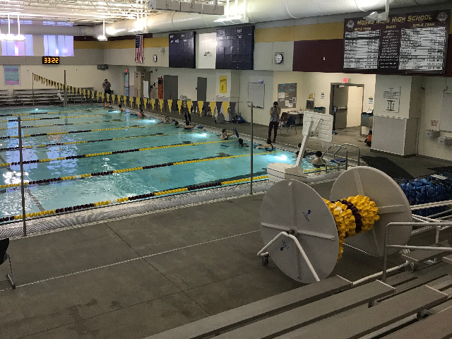
[[[327,278],[338,260],[338,230],[328,206],[307,184],[284,180],[270,187],[261,205],[261,234],[268,244],[280,232],[295,230],[320,279]],[[316,280],[292,239],[281,237],[268,250],[276,265],[301,283]]]

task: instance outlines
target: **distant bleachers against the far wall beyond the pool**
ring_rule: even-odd
[[[93,88],[83,88],[85,90],[94,90]],[[57,89],[39,89],[39,90],[13,90],[13,95],[9,95],[8,90],[0,90],[0,106],[11,105],[61,105],[63,103],[64,93],[60,91],[61,99],[58,96]],[[86,99],[81,95],[67,95],[68,103],[82,103]]]

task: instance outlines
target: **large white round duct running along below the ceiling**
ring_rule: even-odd
[[[391,8],[441,4],[444,0],[389,0]],[[450,6],[449,2],[446,3]],[[328,16],[357,12],[378,11],[386,7],[386,0],[239,0],[239,13],[246,13],[250,23],[262,23],[275,20]],[[246,8],[245,8],[246,6]],[[226,13],[225,13],[226,14]],[[215,28],[240,23],[238,20],[222,20],[225,16],[211,16],[198,13],[165,11],[143,18],[145,32],[165,33],[178,30],[196,30]],[[140,20],[141,21],[141,20]],[[105,36],[116,37],[131,35],[138,21],[120,20],[105,24]],[[7,24],[0,25],[0,31],[6,32]],[[103,35],[102,24],[93,26],[54,26],[20,25],[22,35],[77,35],[98,37]],[[18,34],[17,26],[11,26],[11,34]]]

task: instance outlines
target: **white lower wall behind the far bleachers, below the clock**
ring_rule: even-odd
[[[64,83],[64,70],[66,70],[66,83],[76,87],[93,87],[95,90],[103,90],[102,83],[107,78],[112,83],[112,90],[116,94],[122,94],[124,84],[122,80],[122,67],[109,66],[107,71],[100,71],[95,65],[21,65],[20,85],[4,84],[4,67],[0,66],[0,89],[31,89],[32,73],[44,76],[53,81]],[[35,82],[35,88],[48,88],[42,83]],[[121,91],[120,93],[117,92]]]

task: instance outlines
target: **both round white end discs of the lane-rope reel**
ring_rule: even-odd
[[[353,167],[341,174],[331,190],[331,201],[358,194],[369,196],[376,203],[380,220],[371,231],[347,238],[345,242],[369,254],[382,256],[386,225],[389,222],[411,222],[410,204],[391,177],[372,167]],[[391,230],[391,244],[406,244],[411,229],[397,227]],[[327,278],[338,259],[335,220],[321,196],[307,184],[295,180],[284,180],[271,186],[261,206],[261,234],[265,244],[280,232],[289,230],[295,232],[293,235],[319,278]],[[294,240],[280,237],[266,251],[290,278],[301,283],[316,281]]]

